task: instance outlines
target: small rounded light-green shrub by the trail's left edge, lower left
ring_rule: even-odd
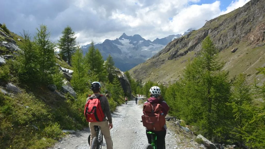
[[[62,135],[62,130],[60,129],[60,125],[55,122],[51,123],[49,126],[46,126],[43,130],[43,136],[48,138],[60,138]]]

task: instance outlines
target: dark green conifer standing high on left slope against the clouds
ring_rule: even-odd
[[[72,28],[69,26],[64,28],[62,34],[60,40],[58,40],[59,49],[61,49],[60,53],[61,55],[66,56],[68,64],[71,64],[72,54],[74,53],[74,50],[76,50],[76,36]]]

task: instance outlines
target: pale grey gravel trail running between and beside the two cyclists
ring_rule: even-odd
[[[138,149],[147,143],[145,128],[140,122],[142,105],[136,105],[134,100],[117,107],[112,113],[113,128],[111,136],[114,149]],[[51,149],[88,149],[87,138],[90,134],[89,128],[70,134],[60,140]],[[103,139],[104,143],[105,140]],[[181,141],[170,129],[166,134],[166,149],[185,148],[180,146]],[[106,147],[103,147],[106,149]]]

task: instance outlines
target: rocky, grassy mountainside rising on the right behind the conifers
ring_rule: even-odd
[[[171,41],[129,72],[135,79],[174,83],[181,77],[187,62],[200,52],[201,42],[209,35],[220,50],[220,60],[226,62],[224,70],[230,71],[231,76],[245,73],[251,82],[257,76],[255,68],[265,63],[264,14],[264,0],[251,0],[243,7],[209,20],[202,28]]]

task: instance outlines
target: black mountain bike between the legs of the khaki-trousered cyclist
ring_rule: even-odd
[[[91,148],[92,149],[101,149],[102,146],[106,146],[105,143],[103,143],[103,134],[101,133],[101,130],[99,129],[99,126],[94,126],[96,137],[93,138]],[[90,146],[90,135],[87,139],[88,144]]]

